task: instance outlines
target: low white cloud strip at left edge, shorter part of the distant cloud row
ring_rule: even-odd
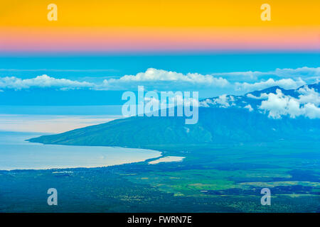
[[[17,77],[0,77],[0,88],[2,89],[28,89],[31,87],[58,87],[58,88],[79,88],[92,87],[88,82],[78,82],[70,79],[55,79],[48,75],[38,76],[32,79],[20,79]]]

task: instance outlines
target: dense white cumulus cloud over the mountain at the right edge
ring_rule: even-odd
[[[295,99],[282,94],[282,91],[277,89],[276,94],[268,94],[268,99],[262,101],[259,108],[267,112],[270,118],[282,118],[282,116],[320,118],[319,94],[316,99],[309,99],[310,95],[314,95],[314,90],[304,88],[299,89],[298,92],[302,94]]]

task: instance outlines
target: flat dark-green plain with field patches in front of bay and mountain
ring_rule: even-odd
[[[320,212],[320,143],[154,148],[182,162],[0,172],[0,212]],[[47,190],[58,190],[48,206]],[[262,188],[271,206],[262,206]]]

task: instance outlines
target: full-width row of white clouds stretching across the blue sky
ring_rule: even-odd
[[[271,72],[225,72],[198,74],[157,70],[149,68],[135,75],[105,79],[102,82],[86,82],[72,79],[57,79],[46,74],[30,78],[0,77],[0,89],[95,89],[95,90],[136,90],[144,85],[148,90],[201,90],[221,89],[228,94],[245,93],[267,87],[279,86],[284,89],[297,89],[304,84],[319,82],[320,67],[297,69],[277,69]]]

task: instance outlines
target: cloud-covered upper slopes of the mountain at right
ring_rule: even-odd
[[[249,111],[258,111],[267,114],[269,118],[279,119],[283,116],[297,118],[320,118],[319,83],[304,85],[296,90],[286,90],[280,87],[270,87],[255,95],[252,93],[243,96],[220,95],[200,101],[199,106],[218,108],[244,108]]]

